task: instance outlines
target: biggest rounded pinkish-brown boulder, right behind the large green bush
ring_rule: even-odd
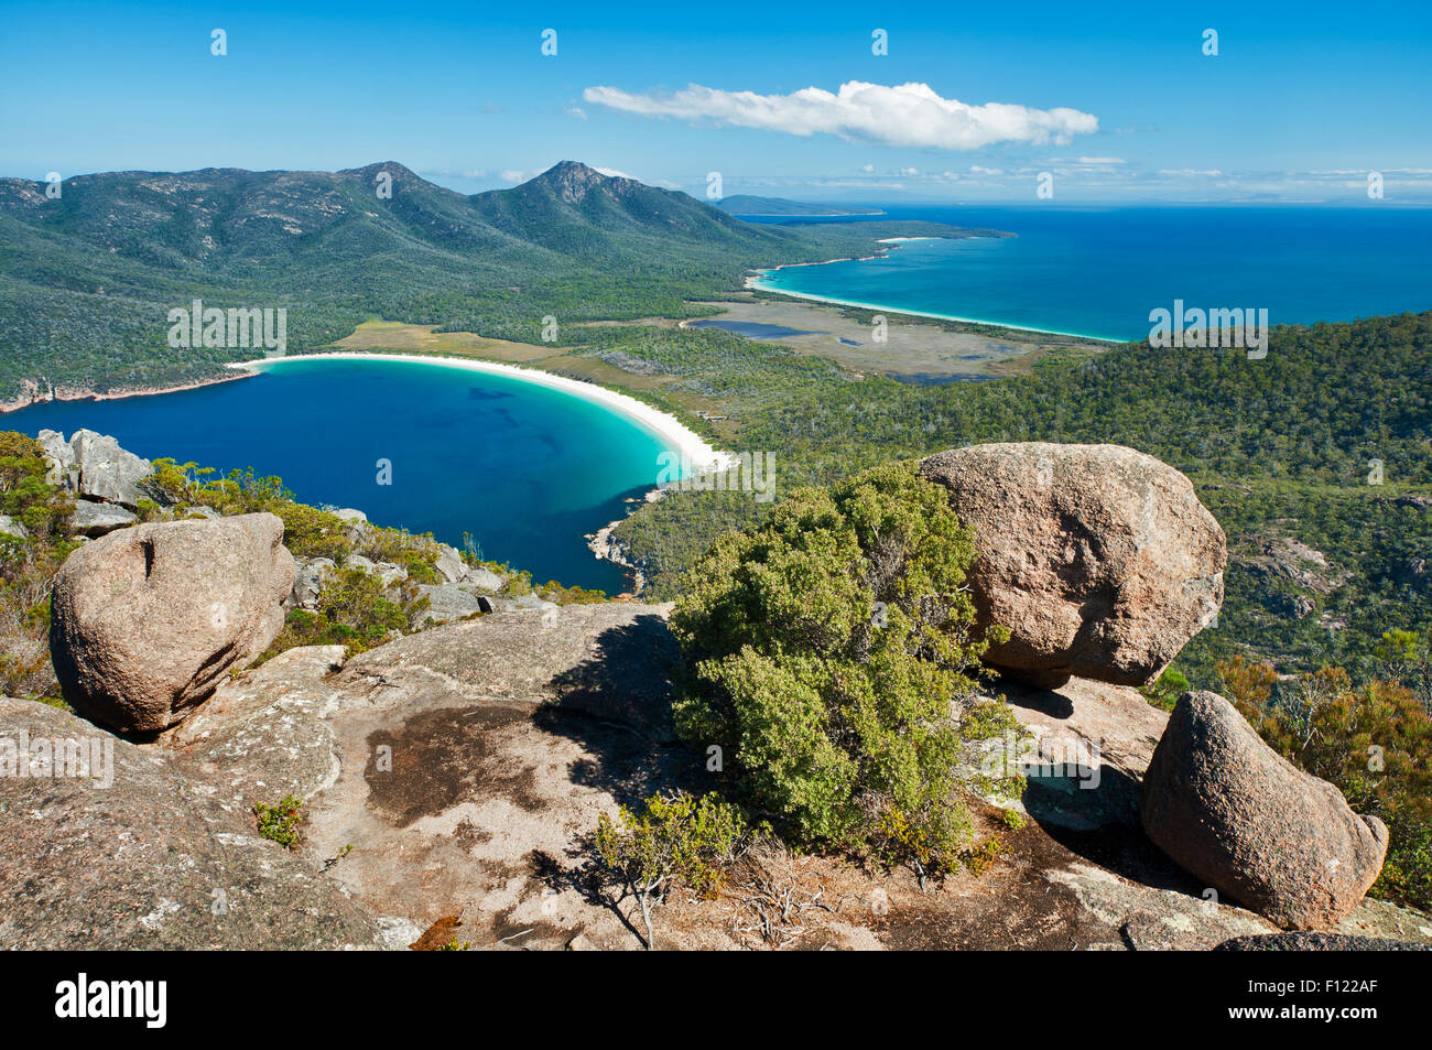
[[[979,626],[1011,637],[985,662],[1055,688],[1146,685],[1223,602],[1227,543],[1173,467],[1121,445],[954,448],[921,463],[975,531]]]

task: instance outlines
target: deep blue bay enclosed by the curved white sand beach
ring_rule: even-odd
[[[63,401],[4,428],[113,434],[140,456],[278,474],[315,504],[431,531],[471,533],[491,560],[609,593],[623,573],[584,534],[656,484],[670,445],[629,417],[503,375],[427,362],[292,358],[251,380],[117,401]],[[392,484],[378,484],[378,460]]]

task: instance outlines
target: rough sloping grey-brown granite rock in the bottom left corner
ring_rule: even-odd
[[[0,948],[384,945],[322,858],[259,838],[182,755],[0,698]]]

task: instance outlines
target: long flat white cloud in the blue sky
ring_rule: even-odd
[[[1098,117],[1077,109],[1030,109],[990,102],[971,106],[942,99],[929,85],[886,87],[861,80],[838,93],[803,87],[792,95],[725,92],[689,85],[672,95],[633,95],[617,87],[589,87],[591,102],[626,113],[683,120],[709,119],[736,127],[759,127],[788,135],[839,135],[853,142],[937,149],[979,149],[995,142],[1054,142],[1098,130]]]

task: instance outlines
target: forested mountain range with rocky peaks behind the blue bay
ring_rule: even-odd
[[[385,193],[385,195],[384,195]],[[387,162],[342,172],[112,172],[0,179],[0,401],[212,378],[242,348],[166,345],[192,299],[285,308],[288,350],[367,318],[537,342],[558,325],[699,317],[752,266],[878,251],[937,223],[755,226],[687,196],[564,162],[463,196]]]

